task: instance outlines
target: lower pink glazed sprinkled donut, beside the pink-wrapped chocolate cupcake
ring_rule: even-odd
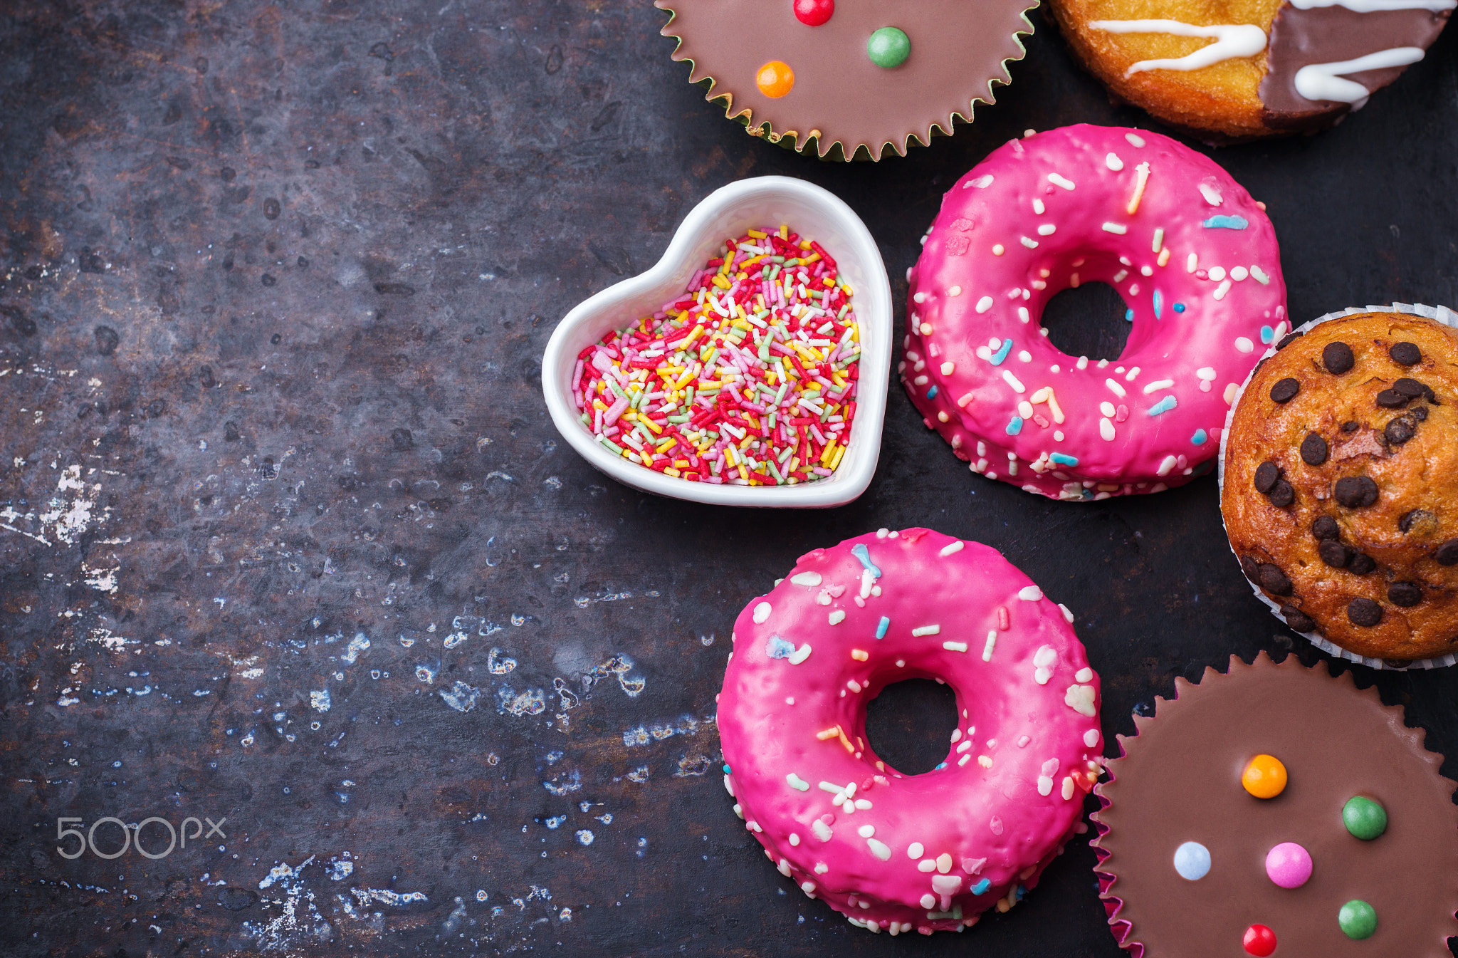
[[[851,924],[962,930],[1038,884],[1101,768],[1099,684],[1072,614],[997,551],[929,529],[802,556],[735,623],[719,697],[725,787],[780,873]],[[956,693],[946,761],[907,776],[866,703]]]

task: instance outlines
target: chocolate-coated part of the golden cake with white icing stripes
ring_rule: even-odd
[[[1296,71],[1314,63],[1341,63],[1381,50],[1420,47],[1427,50],[1448,23],[1448,10],[1379,10],[1357,13],[1343,6],[1299,10],[1282,4],[1271,22],[1266,48],[1266,76],[1260,98],[1271,127],[1305,128],[1328,125],[1347,104],[1314,102],[1296,92]],[[1406,67],[1347,74],[1368,90],[1378,90]]]

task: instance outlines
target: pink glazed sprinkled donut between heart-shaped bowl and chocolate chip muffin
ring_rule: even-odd
[[[974,472],[1051,499],[1209,471],[1238,383],[1289,328],[1264,206],[1204,156],[1117,127],[993,152],[942,198],[908,279],[911,402]],[[1112,362],[1066,356],[1040,325],[1091,281],[1134,324]]]

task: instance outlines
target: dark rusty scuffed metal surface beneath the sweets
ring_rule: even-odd
[[[1085,846],[959,936],[873,938],[808,901],[729,811],[714,693],[741,605],[882,525],[990,542],[1069,604],[1111,733],[1231,652],[1317,659],[1241,580],[1215,481],[1029,497],[894,388],[850,506],[663,502],[566,449],[538,363],[733,178],[838,192],[904,295],[940,190],[996,144],[1147,121],[1040,25],[954,139],[818,163],[706,105],[662,16],[3,4],[6,955],[1118,954]],[[1331,133],[1217,153],[1270,203],[1295,316],[1458,303],[1454,52]],[[1056,338],[1080,311],[1111,303],[1064,300]],[[1099,319],[1089,341],[1120,334]],[[1373,679],[1458,752],[1458,674]],[[945,701],[881,704],[886,748],[945,742]],[[121,843],[101,822],[70,860],[69,817],[226,822],[155,860],[98,857]]]

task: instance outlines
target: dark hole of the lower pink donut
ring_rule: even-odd
[[[866,741],[881,761],[917,776],[946,761],[956,728],[956,693],[930,678],[908,678],[866,703]]]

